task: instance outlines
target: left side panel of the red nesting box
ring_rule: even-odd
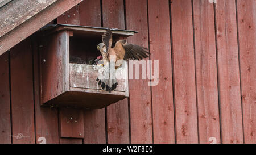
[[[40,50],[42,104],[69,90],[69,32],[44,38]]]

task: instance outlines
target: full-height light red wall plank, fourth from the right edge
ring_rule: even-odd
[[[192,3],[171,3],[176,142],[198,143]]]

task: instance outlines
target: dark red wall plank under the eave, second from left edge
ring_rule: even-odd
[[[31,40],[10,51],[13,143],[35,143]]]

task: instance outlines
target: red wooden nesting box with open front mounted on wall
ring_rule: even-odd
[[[96,82],[101,66],[71,64],[69,56],[85,61],[100,56],[97,44],[106,28],[51,25],[39,31],[40,95],[42,105],[104,108],[129,95],[127,63],[117,69],[117,89],[102,90]],[[135,31],[112,30],[113,43],[134,35]]]

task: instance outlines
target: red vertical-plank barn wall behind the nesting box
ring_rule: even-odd
[[[254,0],[85,0],[56,23],[139,31],[159,84],[84,110],[84,139],[60,137],[57,108],[39,106],[31,36],[0,56],[0,143],[256,143]]]

